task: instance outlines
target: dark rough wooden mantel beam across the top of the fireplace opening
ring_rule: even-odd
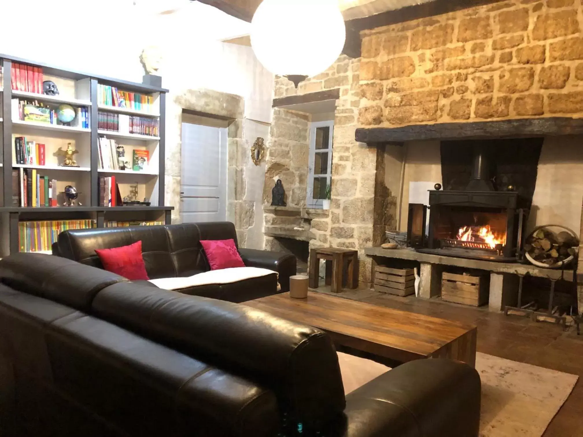
[[[360,143],[399,143],[412,140],[494,139],[583,134],[583,118],[547,117],[409,125],[399,128],[359,128]]]

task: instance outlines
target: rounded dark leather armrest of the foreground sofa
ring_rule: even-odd
[[[477,437],[479,373],[452,360],[411,361],[346,396],[337,437]]]

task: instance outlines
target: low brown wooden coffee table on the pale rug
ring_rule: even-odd
[[[398,362],[452,358],[474,367],[477,327],[422,314],[365,304],[318,292],[307,299],[289,293],[244,302],[283,319],[327,332],[337,346]]]

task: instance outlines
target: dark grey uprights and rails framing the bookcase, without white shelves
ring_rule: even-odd
[[[105,84],[110,86],[118,87],[124,91],[135,91],[138,93],[160,93],[159,103],[160,103],[160,140],[158,145],[159,153],[159,172],[158,172],[158,204],[164,205],[164,170],[165,161],[164,157],[166,155],[166,93],[167,89],[152,86],[149,84],[128,82],[126,80],[112,79],[111,77],[93,75],[92,73],[83,73],[78,71],[72,71],[70,69],[62,69],[52,65],[43,64],[42,62],[30,61],[29,59],[16,58],[10,55],[0,54],[0,61],[3,65],[3,98],[2,98],[2,181],[3,181],[3,191],[2,191],[2,207],[0,207],[0,213],[8,214],[8,235],[5,232],[0,232],[0,238],[9,238],[9,248],[10,253],[15,253],[19,251],[19,241],[18,241],[18,222],[20,218],[26,217],[27,220],[67,220],[68,218],[76,218],[79,214],[95,213],[97,227],[103,228],[105,223],[105,217],[108,212],[131,212],[135,214],[135,220],[143,219],[144,215],[148,212],[164,212],[164,220],[166,224],[170,224],[171,212],[174,209],[173,206],[115,206],[115,207],[103,207],[99,206],[99,156],[98,156],[98,142],[99,134],[97,133],[97,84]],[[43,73],[51,76],[65,77],[66,79],[90,79],[90,96],[91,96],[91,107],[90,118],[91,118],[91,155],[90,155],[90,206],[75,206],[75,207],[15,207],[7,206],[12,203],[12,63],[16,62],[18,64],[30,64],[36,65],[43,68]]]

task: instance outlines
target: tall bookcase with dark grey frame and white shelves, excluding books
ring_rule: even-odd
[[[59,221],[59,220],[91,220],[94,227],[106,227],[110,221],[148,222],[163,221],[170,223],[170,214],[174,209],[164,205],[164,136],[166,93],[168,90],[149,84],[128,82],[113,79],[111,77],[94,75],[92,73],[71,71],[21,59],[9,55],[0,54],[0,64],[3,67],[3,79],[0,81],[0,256],[6,256],[10,252],[19,251],[19,223],[23,221]],[[38,90],[38,85],[28,87],[28,90],[13,89],[12,65],[20,64],[38,67],[42,69],[42,80],[51,80],[59,90],[57,96],[47,96]],[[132,107],[120,107],[119,105],[104,104],[103,94],[98,94],[104,88],[113,87],[124,93],[124,96],[132,96]],[[31,92],[40,91],[40,92]],[[138,98],[144,98],[147,105],[136,105],[134,94]],[[117,95],[117,94],[116,94]],[[142,97],[146,96],[146,97]],[[16,109],[13,99],[20,101],[37,101],[38,105],[48,108],[56,108],[61,104],[71,105],[77,111],[78,108],[86,108],[82,111],[89,116],[89,127],[76,124],[79,117],[71,126],[61,124],[48,124],[43,122],[24,121],[19,119],[18,105]],[[118,104],[118,102],[115,102]],[[36,104],[36,103],[35,103]],[[135,106],[135,107],[134,107]],[[141,135],[130,133],[122,129],[124,124],[120,122],[121,132],[111,132],[98,129],[98,113],[106,112],[114,114],[117,118],[140,117],[149,124],[157,124],[157,132],[153,135]],[[21,113],[22,114],[22,113]],[[150,122],[151,121],[151,122]],[[135,126],[135,124],[134,124]],[[107,126],[109,127],[109,126]],[[134,130],[135,132],[135,130]],[[100,167],[99,138],[114,139],[117,145],[124,147],[128,161],[132,160],[134,150],[147,150],[149,162],[143,171],[113,170]],[[45,164],[17,163],[15,138],[26,138],[26,142],[32,141],[45,145]],[[57,153],[59,147],[66,149],[71,143],[79,167],[62,167],[63,157]],[[145,152],[143,152],[145,153]],[[22,161],[21,161],[22,162]],[[49,180],[57,181],[58,206],[23,207],[13,202],[12,170],[34,169],[38,174],[47,176]],[[137,185],[138,199],[147,197],[151,206],[99,206],[99,178],[115,176],[122,197],[127,196],[130,190]],[[78,189],[81,205],[62,206],[65,185],[73,185]]]

